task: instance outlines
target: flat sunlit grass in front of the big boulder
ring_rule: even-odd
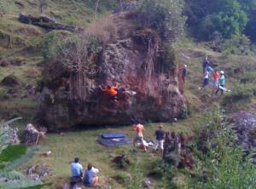
[[[197,119],[194,119],[194,122]],[[194,123],[196,124],[196,123]],[[157,124],[148,123],[145,125],[144,137],[146,139],[154,140],[154,131],[158,129]],[[183,120],[174,126],[170,123],[165,123],[165,130],[187,133],[192,135],[193,123],[191,120]],[[87,163],[93,163],[96,168],[100,169],[101,185],[107,184],[113,188],[125,188],[125,185],[120,185],[118,181],[111,178],[118,175],[133,175],[137,164],[137,169],[142,171],[143,176],[146,177],[150,171],[150,166],[155,160],[160,159],[160,154],[154,154],[152,158],[148,153],[152,147],[148,149],[149,152],[141,152],[138,150],[137,155],[133,155],[130,150],[132,145],[120,146],[114,148],[106,148],[99,145],[96,139],[105,132],[123,132],[130,138],[133,138],[135,132],[131,126],[122,126],[119,128],[100,128],[100,129],[86,129],[79,132],[68,132],[67,135],[49,134],[46,139],[40,142],[41,149],[37,155],[32,158],[30,164],[47,163],[53,169],[52,175],[46,177],[44,181],[53,182],[53,188],[58,188],[63,185],[64,180],[68,180],[70,176],[70,163],[73,158],[79,157],[80,162],[85,168]],[[52,154],[49,158],[45,158],[42,153],[51,151]],[[119,155],[127,153],[128,158],[131,160],[131,166],[127,169],[119,169],[114,164],[110,163],[110,157],[113,154]],[[160,180],[156,180],[160,181]],[[127,185],[127,183],[124,183]]]

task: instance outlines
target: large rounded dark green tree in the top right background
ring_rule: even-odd
[[[184,13],[195,36],[211,40],[218,31],[224,38],[240,35],[247,26],[247,9],[241,0],[186,0]],[[200,28],[200,30],[198,30]]]

